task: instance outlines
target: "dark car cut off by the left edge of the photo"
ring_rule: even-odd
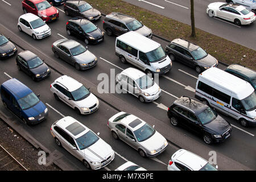
[[[16,46],[9,41],[10,38],[6,38],[0,34],[0,58],[4,59],[10,56],[13,56],[17,53]]]

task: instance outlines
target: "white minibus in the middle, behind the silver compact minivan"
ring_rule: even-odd
[[[172,69],[172,61],[162,46],[137,32],[130,31],[115,39],[115,55],[147,74],[162,75]]]

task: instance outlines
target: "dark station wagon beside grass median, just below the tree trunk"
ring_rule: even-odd
[[[187,40],[174,39],[166,46],[166,53],[172,61],[180,61],[201,73],[210,67],[217,67],[218,61],[196,44]]]

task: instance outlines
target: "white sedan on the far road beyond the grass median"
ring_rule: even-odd
[[[207,14],[234,22],[237,26],[251,24],[255,21],[255,14],[246,7],[225,2],[213,2],[207,7]]]

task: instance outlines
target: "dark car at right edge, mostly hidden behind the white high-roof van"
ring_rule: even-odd
[[[254,70],[243,67],[239,64],[232,64],[229,65],[224,71],[249,82],[256,90],[256,72]]]

